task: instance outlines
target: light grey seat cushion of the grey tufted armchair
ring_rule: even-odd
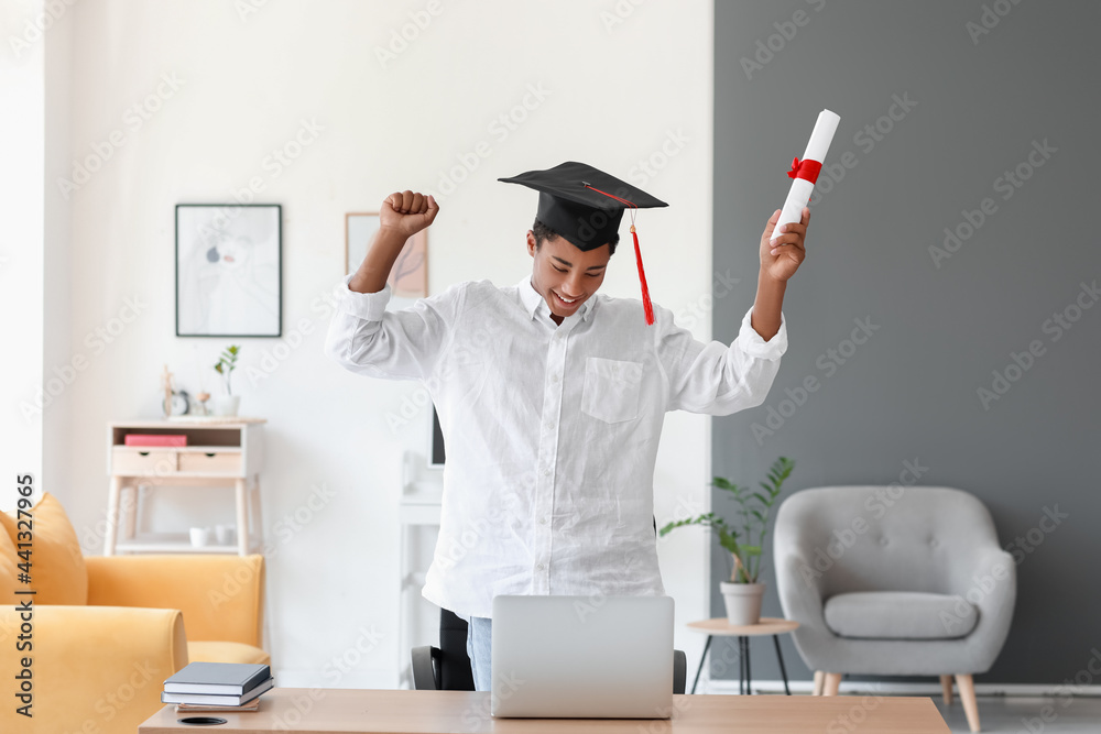
[[[862,591],[826,602],[826,626],[841,637],[953,639],[979,621],[962,596],[914,591]]]

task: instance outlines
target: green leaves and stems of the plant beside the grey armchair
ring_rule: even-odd
[[[734,568],[730,573],[733,583],[756,583],[761,573],[761,556],[764,548],[764,537],[768,532],[768,514],[776,504],[781,487],[795,469],[795,462],[780,457],[768,469],[768,480],[761,482],[764,492],[738,486],[721,476],[716,476],[711,486],[730,492],[738,503],[739,523],[728,523],[713,512],[689,519],[679,519],[667,524],[661,529],[665,536],[678,527],[702,525],[718,534],[719,545],[730,551],[734,559]],[[739,525],[740,527],[735,527]]]

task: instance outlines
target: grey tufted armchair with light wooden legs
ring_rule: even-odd
[[[776,587],[799,622],[795,646],[833,695],[843,673],[951,679],[972,732],[972,676],[1005,643],[1016,599],[1013,557],[985,506],[942,486],[829,486],[776,514]]]

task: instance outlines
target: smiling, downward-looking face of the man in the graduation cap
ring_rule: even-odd
[[[532,285],[550,307],[556,324],[573,316],[600,284],[604,282],[611,248],[602,244],[581,251],[564,237],[553,237],[536,243],[534,232],[527,232],[527,252],[535,260]]]

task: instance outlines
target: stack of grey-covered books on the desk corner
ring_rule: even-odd
[[[164,681],[162,703],[176,711],[255,711],[275,686],[271,667],[247,662],[189,662]]]

